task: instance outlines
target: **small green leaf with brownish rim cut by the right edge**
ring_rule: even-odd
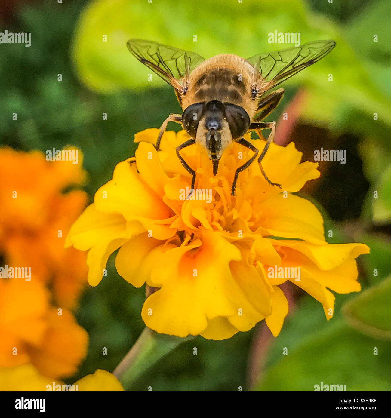
[[[342,313],[363,334],[391,339],[390,300],[391,276],[348,301]]]

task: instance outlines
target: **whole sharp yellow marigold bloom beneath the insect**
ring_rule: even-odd
[[[321,302],[327,319],[334,308],[328,289],[360,290],[354,259],[369,249],[328,244],[317,208],[291,194],[319,177],[316,163],[300,163],[293,143],[285,148],[272,143],[262,161],[282,189],[269,185],[253,163],[239,174],[236,196],[231,196],[235,169],[251,151],[231,144],[213,176],[204,150],[185,148],[181,155],[197,172],[197,193],[187,199],[191,176],[175,153],[187,134],[166,132],[159,152],[152,145],[157,135],[157,129],[148,129],[135,136],[140,142],[135,158],[115,167],[112,180],[69,232],[66,245],[89,250],[90,285],[100,282],[107,258],[120,248],[118,273],[136,287],[159,288],[143,305],[146,325],[159,333],[209,339],[248,331],[262,319],[278,335],[288,312],[279,288],[286,280]],[[262,149],[265,142],[253,143]],[[271,277],[279,267],[300,267],[300,280]]]

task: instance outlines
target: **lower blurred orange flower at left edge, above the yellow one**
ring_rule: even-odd
[[[0,367],[31,362],[46,376],[73,375],[87,354],[87,332],[69,311],[50,306],[43,283],[21,280],[0,279]]]

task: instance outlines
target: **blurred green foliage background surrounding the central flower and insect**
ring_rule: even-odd
[[[388,0],[0,2],[1,32],[32,33],[29,48],[0,45],[0,142],[26,151],[76,145],[84,153],[91,201],[116,163],[134,154],[133,135],[180,112],[171,87],[155,75],[148,82],[150,70],[126,48],[129,38],[206,58],[285,48],[268,44],[275,30],[300,32],[302,43],[337,42],[325,59],[284,83],[284,99],[268,120],[287,109],[297,114],[289,126],[277,125],[277,136],[284,145],[294,140],[304,159],[312,160],[320,147],[347,150],[347,163],[322,163],[322,177],[302,195],[324,214],[325,230],[333,231],[329,242],[371,248],[359,259],[363,291],[337,295],[335,316],[327,322],[317,301],[287,288],[294,310],[277,338],[262,323],[221,342],[197,337],[155,364],[133,389],[313,390],[324,382],[391,390],[390,15]],[[113,256],[108,269],[76,311],[90,345],[69,382],[97,368],[112,371],[144,327],[145,289],[117,275]]]

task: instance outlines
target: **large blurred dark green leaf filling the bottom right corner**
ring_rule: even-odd
[[[309,391],[321,382],[346,385],[346,390],[391,390],[390,344],[363,336],[341,320],[286,347],[288,354],[267,370],[256,390]]]

